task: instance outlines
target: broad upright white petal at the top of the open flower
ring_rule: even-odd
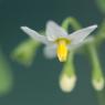
[[[55,22],[49,21],[46,23],[46,36],[50,41],[55,41],[59,38],[66,38],[67,33]]]

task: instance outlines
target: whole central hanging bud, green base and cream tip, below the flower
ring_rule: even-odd
[[[63,71],[60,75],[60,87],[63,92],[70,93],[76,85],[76,75],[73,64],[74,53],[71,52],[70,57],[64,64]]]

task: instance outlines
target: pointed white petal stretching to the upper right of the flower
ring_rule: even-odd
[[[78,30],[76,32],[73,32],[70,34],[69,39],[71,40],[71,44],[78,44],[82,42],[92,31],[94,31],[97,28],[97,25],[92,25],[82,30]]]

